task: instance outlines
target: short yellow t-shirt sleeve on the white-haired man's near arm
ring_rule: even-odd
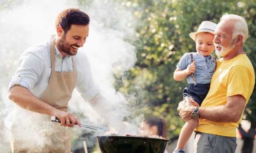
[[[227,97],[240,94],[246,99],[249,94],[250,76],[250,71],[245,66],[232,67],[227,79]]]

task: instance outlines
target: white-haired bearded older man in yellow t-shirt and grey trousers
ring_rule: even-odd
[[[243,50],[248,38],[245,19],[227,14],[215,30],[214,45],[218,60],[209,93],[201,107],[191,104],[180,111],[183,120],[199,115],[194,153],[234,153],[236,128],[242,120],[246,104],[255,84],[254,68]],[[195,115],[196,114],[196,115]]]

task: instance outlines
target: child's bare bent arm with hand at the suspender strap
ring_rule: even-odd
[[[185,70],[181,70],[180,68],[176,68],[174,72],[174,80],[182,81],[184,80],[189,74],[194,73],[196,71],[195,61],[191,63]]]

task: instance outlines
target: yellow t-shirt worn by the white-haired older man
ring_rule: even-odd
[[[210,90],[205,97],[201,107],[214,107],[227,104],[227,97],[241,94],[248,103],[255,83],[254,68],[245,54],[224,61],[219,59],[216,72],[211,79]],[[235,111],[235,110],[234,110]],[[199,111],[200,115],[200,111]],[[220,136],[236,137],[238,122],[213,122],[199,119],[196,131],[211,133]]]

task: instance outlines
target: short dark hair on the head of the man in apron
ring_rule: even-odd
[[[69,31],[72,24],[87,25],[90,22],[89,16],[80,9],[70,8],[60,12],[55,26],[61,26],[65,33]]]

